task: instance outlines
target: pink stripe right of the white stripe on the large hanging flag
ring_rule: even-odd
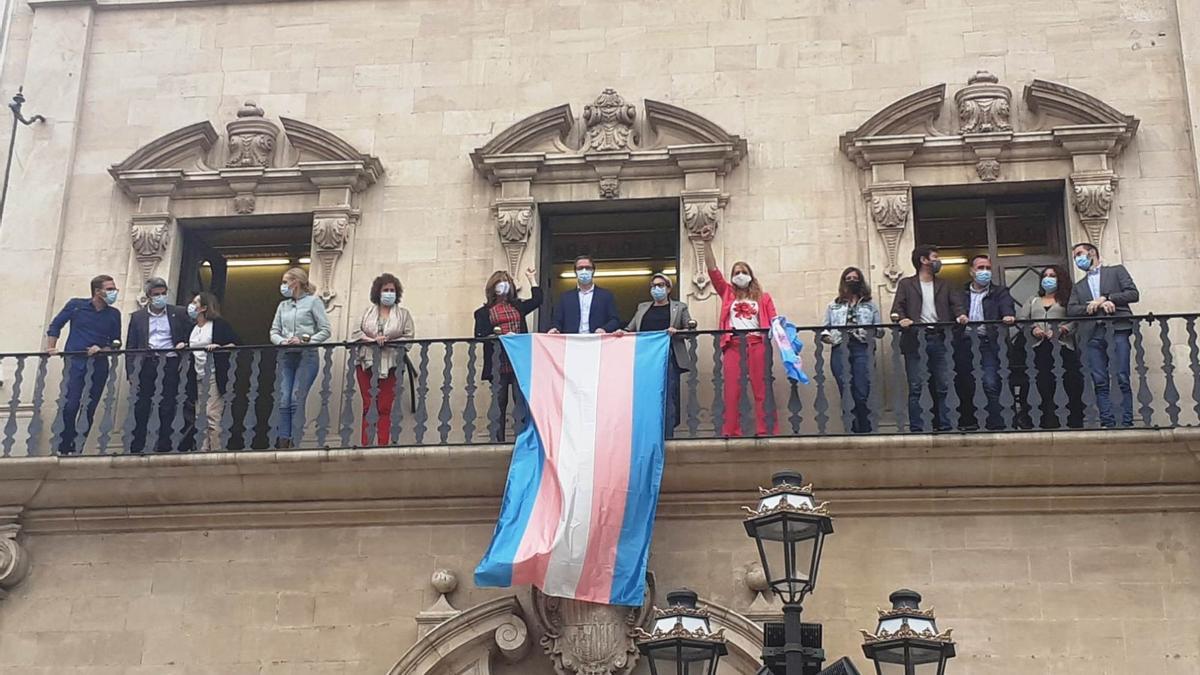
[[[634,430],[634,353],[636,340],[605,340],[600,351],[604,393],[596,400],[595,465],[592,476],[592,527],[575,597],[608,603],[617,544],[625,520]]]

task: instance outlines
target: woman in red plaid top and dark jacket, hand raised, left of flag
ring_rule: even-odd
[[[517,297],[517,285],[508,271],[496,270],[487,277],[484,285],[484,305],[475,310],[475,338],[493,338],[497,333],[506,335],[509,333],[527,333],[526,317],[541,306],[542,292],[538,287],[538,273],[529,268],[526,270],[526,281],[529,283],[529,299]],[[499,353],[499,372],[493,370],[496,363],[496,341],[484,342],[482,378],[492,382],[496,390],[496,404],[499,408],[493,440],[504,442],[504,434],[509,419],[509,396],[514,401],[522,401],[521,387],[517,386],[512,365],[503,351]],[[518,405],[517,408],[521,406]]]

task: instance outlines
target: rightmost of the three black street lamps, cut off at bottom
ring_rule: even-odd
[[[880,610],[875,633],[863,631],[863,653],[876,675],[943,675],[954,658],[950,629],[938,633],[934,609],[920,609],[916,591],[901,589],[888,599],[892,609]]]

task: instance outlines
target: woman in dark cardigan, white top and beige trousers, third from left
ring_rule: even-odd
[[[229,389],[229,352],[214,352],[217,347],[234,347],[240,340],[233,325],[221,317],[221,306],[212,293],[197,293],[187,305],[187,317],[196,322],[187,339],[196,365],[196,382],[208,392],[204,410],[197,417],[205,420],[200,450],[221,450],[221,418],[224,417],[224,395]],[[198,350],[204,350],[198,351]],[[210,359],[211,357],[211,359]],[[203,396],[197,399],[197,406]]]

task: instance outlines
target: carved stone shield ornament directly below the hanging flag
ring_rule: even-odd
[[[625,675],[637,663],[636,632],[649,614],[652,584],[642,607],[557,598],[533,589],[533,607],[545,631],[541,646],[558,675]]]

